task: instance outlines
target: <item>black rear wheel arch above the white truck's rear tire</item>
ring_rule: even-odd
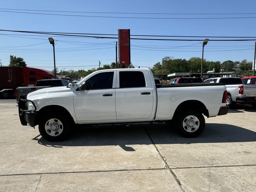
[[[186,100],[178,105],[174,112],[174,117],[177,116],[181,111],[183,110],[196,110],[202,114],[204,114],[206,117],[209,117],[209,111],[207,110],[206,106],[198,100]]]

